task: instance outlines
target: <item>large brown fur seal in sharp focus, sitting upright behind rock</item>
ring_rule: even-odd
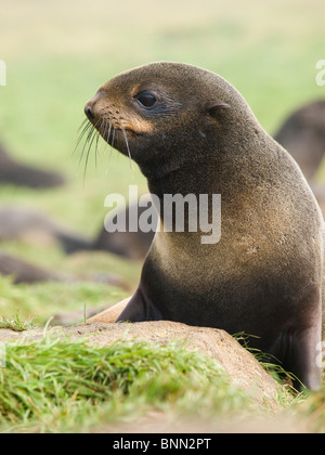
[[[153,63],[108,81],[84,112],[138,162],[160,200],[222,197],[222,235],[211,245],[202,244],[200,230],[164,232],[160,209],[160,232],[117,321],[245,332],[256,337],[250,347],[317,389],[323,217],[296,161],[239,92],[208,70]]]

